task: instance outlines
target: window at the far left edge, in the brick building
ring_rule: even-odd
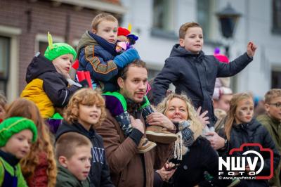
[[[0,36],[0,92],[7,95],[8,72],[10,64],[10,38]]]

